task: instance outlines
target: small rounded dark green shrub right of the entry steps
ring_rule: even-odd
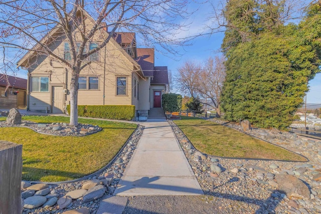
[[[163,94],[162,102],[164,111],[169,112],[168,117],[172,116],[172,112],[182,109],[182,96],[179,94]]]

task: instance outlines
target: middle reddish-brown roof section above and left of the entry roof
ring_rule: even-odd
[[[137,48],[137,63],[145,77],[152,77],[154,70],[154,49]]]

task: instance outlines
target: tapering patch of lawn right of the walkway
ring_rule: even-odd
[[[281,147],[211,121],[182,116],[182,120],[174,122],[196,149],[209,155],[306,161],[305,158]]]

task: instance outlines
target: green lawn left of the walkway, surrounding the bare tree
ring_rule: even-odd
[[[5,120],[6,118],[0,118]],[[39,123],[69,122],[68,117],[26,116]],[[79,119],[103,129],[84,137],[39,134],[23,127],[0,128],[0,139],[23,144],[24,180],[64,181],[93,173],[108,164],[136,124]]]

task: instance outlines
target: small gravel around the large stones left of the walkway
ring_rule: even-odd
[[[54,197],[54,196],[57,198],[61,198],[72,190],[82,189],[83,184],[88,183],[88,181],[92,181],[92,182],[100,181],[100,183],[103,184],[106,188],[104,195],[105,194],[112,195],[121,176],[123,175],[123,172],[131,158],[131,155],[133,154],[133,151],[136,148],[136,145],[140,139],[140,136],[142,135],[143,129],[144,129],[144,126],[142,125],[137,126],[137,129],[133,132],[131,137],[128,139],[126,145],[124,145],[122,150],[119,152],[119,155],[116,158],[114,158],[112,162],[110,162],[109,166],[105,170],[103,170],[102,172],[92,177],[89,177],[88,179],[84,179],[77,182],[49,184],[48,188],[50,188],[50,193],[45,196],[47,198]],[[106,182],[106,180],[109,182]],[[25,190],[26,189],[22,189],[22,191],[25,191]],[[72,202],[63,209],[60,209],[56,203],[47,208],[44,208],[43,206],[39,206],[33,209],[24,208],[23,214],[27,214],[27,213],[43,213],[43,214],[57,213],[58,214],[58,213],[63,213],[64,211],[67,211],[67,210],[72,210],[72,209],[81,208],[81,207],[85,207],[89,210],[89,213],[95,214],[99,207],[99,198],[88,202],[84,202],[83,197],[80,197],[78,199],[73,199]]]

